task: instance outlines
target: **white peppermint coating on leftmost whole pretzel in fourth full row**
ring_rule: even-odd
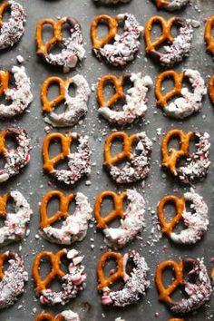
[[[88,198],[83,193],[75,195],[75,210],[65,220],[61,229],[40,228],[39,232],[53,243],[71,245],[75,241],[82,241],[88,230],[88,221],[92,219],[92,208]]]

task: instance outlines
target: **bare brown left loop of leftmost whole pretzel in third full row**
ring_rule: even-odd
[[[61,141],[62,151],[58,155],[53,157],[53,159],[50,159],[49,147],[50,147],[50,143],[54,140]],[[69,132],[66,136],[60,132],[53,132],[48,134],[44,139],[44,145],[43,145],[44,170],[47,170],[48,172],[51,173],[54,170],[54,166],[58,162],[64,160],[70,154],[71,145],[72,145],[71,132]]]

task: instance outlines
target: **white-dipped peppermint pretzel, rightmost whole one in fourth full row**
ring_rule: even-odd
[[[186,202],[190,202],[191,213],[186,209]],[[176,209],[176,215],[170,222],[165,220],[164,209],[167,204],[173,204]],[[208,230],[208,206],[204,199],[194,190],[190,190],[179,198],[174,195],[168,195],[160,199],[158,205],[158,216],[162,233],[176,243],[195,244]],[[173,229],[183,220],[187,229],[182,229],[180,233],[174,233]]]

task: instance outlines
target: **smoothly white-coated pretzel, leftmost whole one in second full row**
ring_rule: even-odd
[[[52,101],[49,101],[48,91],[53,83],[58,85],[60,94]],[[75,97],[69,95],[69,87],[71,84],[76,87]],[[80,74],[64,80],[57,76],[47,78],[41,90],[42,109],[46,114],[44,121],[52,124],[53,127],[74,126],[88,110],[87,104],[90,93],[89,84]],[[57,114],[54,112],[54,108],[61,102],[66,106],[66,110],[61,114]]]

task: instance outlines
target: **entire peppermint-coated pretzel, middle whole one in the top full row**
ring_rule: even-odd
[[[98,39],[97,27],[104,22],[108,25],[109,34]],[[117,34],[120,22],[124,23],[122,34]],[[97,15],[92,21],[91,37],[92,51],[96,57],[114,66],[124,66],[130,63],[140,48],[139,38],[143,27],[138,23],[134,15],[121,14],[112,17],[110,15]],[[111,42],[111,44],[110,44]]]

